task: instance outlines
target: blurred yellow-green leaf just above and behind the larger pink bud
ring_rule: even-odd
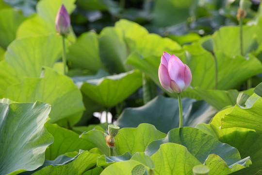
[[[138,51],[143,57],[159,56],[159,64],[164,51],[170,52],[181,49],[181,46],[176,41],[156,34],[139,37],[135,40],[135,46],[135,51]]]

